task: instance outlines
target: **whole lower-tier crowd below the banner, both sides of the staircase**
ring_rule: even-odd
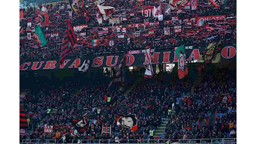
[[[225,138],[236,137],[236,79],[235,71],[216,69],[204,76],[194,93],[189,93],[189,78],[179,80],[164,72],[152,79],[142,79],[129,95],[115,86],[107,89],[107,82],[85,83],[70,80],[64,85],[29,86],[21,98],[21,106],[27,112],[30,135],[36,139],[72,140],[147,140],[149,130],[156,129],[166,116],[171,104],[174,112],[161,138]],[[109,79],[104,76],[104,79]],[[166,81],[164,79],[170,79]],[[129,86],[126,83],[125,87]],[[111,101],[106,100],[111,97]],[[51,109],[48,113],[47,110]],[[198,128],[198,116],[210,115],[217,110],[213,128]],[[48,113],[48,114],[47,114]],[[87,131],[80,134],[70,123],[84,114],[90,119]],[[138,130],[117,125],[117,115],[138,115]],[[44,132],[44,125],[53,125],[52,133]],[[111,125],[112,132],[102,134],[102,126]]]

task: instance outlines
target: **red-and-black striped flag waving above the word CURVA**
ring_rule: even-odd
[[[61,47],[61,56],[60,56],[60,64],[64,62],[66,56],[70,52],[70,47],[77,44],[77,38],[75,33],[73,32],[73,29],[71,27],[70,22],[67,23],[67,27],[64,34],[64,39]]]

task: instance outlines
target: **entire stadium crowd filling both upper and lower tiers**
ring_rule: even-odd
[[[75,30],[78,44],[69,56],[82,56],[87,53],[116,52],[120,50],[144,49],[142,43],[150,45],[152,49],[172,49],[181,44],[201,47],[216,40],[223,43],[236,43],[236,1],[227,0],[225,5],[215,8],[208,4],[208,0],[198,1],[198,9],[184,9],[181,13],[170,13],[164,16],[161,25],[157,18],[145,18],[141,14],[142,6],[135,1],[106,1],[105,6],[115,7],[112,17],[119,17],[119,24],[102,20],[99,24],[97,14],[99,10],[92,1],[85,1],[89,19],[70,12],[68,3],[58,2],[47,4],[45,7],[50,17],[50,25],[41,25],[47,45],[42,47],[35,38],[27,39],[36,26],[36,7],[24,8],[24,18],[20,19],[20,61],[48,60],[60,58],[61,45],[67,20],[72,26],[86,24],[88,28]],[[165,4],[162,3],[164,13]],[[145,6],[159,6],[159,1],[146,1]],[[41,9],[42,6],[38,6]],[[144,7],[146,8],[146,7]],[[203,27],[197,27],[197,17],[225,15],[225,19],[207,20]],[[121,18],[122,17],[122,18]],[[179,20],[171,20],[179,17]],[[123,20],[126,18],[126,20]],[[192,18],[192,19],[191,19]],[[31,27],[27,23],[32,22]],[[141,25],[141,23],[152,23]],[[137,26],[135,24],[138,24]],[[131,26],[130,26],[131,25]],[[160,26],[161,25],[161,26]],[[174,27],[181,25],[180,33],[174,32]],[[126,32],[117,32],[117,27],[127,28]],[[106,35],[99,35],[102,28],[108,27]],[[165,35],[165,29],[170,30]],[[213,29],[214,28],[214,29]],[[154,35],[141,37],[149,30]],[[140,31],[140,37],[134,33]],[[86,32],[85,36],[81,33]],[[51,33],[58,35],[51,37]],[[50,34],[50,35],[48,35]],[[117,35],[125,34],[125,38]],[[130,38],[129,40],[127,38]],[[92,39],[100,39],[100,44],[92,46]],[[114,44],[110,45],[110,41]],[[129,42],[130,41],[130,42]],[[140,72],[138,72],[140,73]],[[144,70],[142,70],[144,73]],[[67,78],[66,83],[52,84],[52,81],[38,81],[29,85],[27,92],[21,92],[20,106],[26,111],[30,134],[21,136],[26,139],[56,139],[66,137],[66,142],[72,140],[122,140],[148,139],[149,130],[156,129],[168,116],[168,109],[174,103],[174,111],[161,138],[223,138],[236,137],[236,73],[227,69],[208,71],[203,82],[190,94],[191,79],[179,80],[175,76],[163,71],[152,79],[142,79],[136,88],[127,96],[124,92],[137,77],[131,77],[124,88],[107,89],[110,82],[109,73],[97,75],[98,80]],[[78,76],[77,76],[78,77]],[[100,80],[99,80],[100,79]],[[111,97],[108,102],[106,97]],[[217,110],[216,124],[213,128],[198,128],[198,116],[210,115]],[[87,115],[90,124],[85,133],[80,134],[70,120],[79,119]],[[117,125],[116,115],[138,115],[138,131]],[[52,133],[44,132],[44,125],[53,125]],[[102,125],[111,125],[112,133],[102,134]]]

